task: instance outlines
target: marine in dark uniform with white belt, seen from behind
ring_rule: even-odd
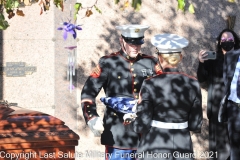
[[[151,42],[158,49],[163,72],[144,80],[141,87],[137,117],[131,123],[142,135],[138,160],[192,160],[190,131],[200,132],[203,120],[201,89],[196,78],[179,72],[177,64],[162,55],[181,57],[188,41],[175,34],[159,34]]]

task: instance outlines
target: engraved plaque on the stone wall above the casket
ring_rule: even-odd
[[[6,62],[6,67],[1,67],[7,77],[25,77],[36,71],[37,67],[26,66],[26,62]]]

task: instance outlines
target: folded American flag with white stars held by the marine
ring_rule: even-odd
[[[102,97],[100,100],[107,106],[120,113],[135,113],[137,99],[129,97]]]

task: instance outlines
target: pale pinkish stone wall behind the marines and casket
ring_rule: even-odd
[[[83,1],[84,7],[91,6],[95,0]],[[37,71],[25,77],[7,77],[1,80],[0,96],[9,102],[16,102],[20,107],[34,109],[54,115],[80,135],[77,152],[104,152],[100,139],[92,135],[82,116],[80,94],[81,89],[91,70],[101,56],[119,50],[120,33],[115,30],[121,24],[146,24],[150,28],[145,34],[142,52],[154,55],[155,49],[150,38],[158,33],[175,33],[189,40],[184,49],[184,58],[180,69],[187,74],[196,76],[198,66],[197,55],[201,49],[215,49],[216,37],[226,28],[228,15],[236,16],[234,30],[240,35],[239,3],[227,0],[189,1],[195,7],[195,14],[177,10],[176,0],[143,1],[139,12],[130,7],[124,11],[114,1],[98,0],[97,6],[102,14],[93,8],[93,15],[85,17],[85,11],[79,12],[77,24],[82,24],[82,31],[77,31],[78,38],[71,37],[67,41],[62,32],[57,30],[63,21],[70,17],[70,7],[75,1],[65,1],[65,11],[61,12],[53,4],[50,11],[39,15],[40,7],[33,4],[22,8],[25,17],[14,17],[10,27],[1,33],[2,54],[0,60],[6,62],[26,62],[37,67]],[[188,5],[188,3],[186,4]],[[73,8],[73,7],[72,7]],[[73,13],[73,12],[72,12]],[[67,51],[65,46],[77,45],[77,75],[74,77],[75,89],[69,92],[69,81],[66,78]],[[154,55],[156,56],[156,55]],[[202,90],[204,124],[201,134],[192,135],[195,151],[208,150],[208,120],[206,118],[207,92]],[[98,112],[103,114],[104,106],[97,97]],[[80,159],[80,158],[79,158]],[[85,160],[103,158],[85,157]]]

